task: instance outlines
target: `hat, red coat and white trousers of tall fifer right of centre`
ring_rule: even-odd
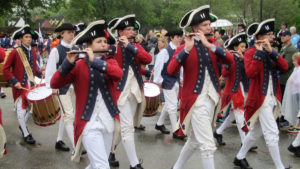
[[[214,19],[209,14],[209,5],[205,5],[188,12],[180,26],[185,28]],[[213,169],[216,146],[211,124],[220,98],[218,63],[231,64],[232,55],[216,45],[208,49],[198,38],[194,38],[194,47],[189,53],[184,47],[185,44],[176,49],[168,66],[168,73],[173,76],[183,66],[178,128],[188,134],[188,140],[173,168],[182,168],[193,152],[200,149],[203,168]]]

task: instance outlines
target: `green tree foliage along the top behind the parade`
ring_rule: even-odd
[[[259,22],[261,0],[28,0],[27,15],[33,20],[65,16],[72,23],[89,23],[104,19],[109,22],[115,17],[136,14],[142,32],[149,29],[176,29],[182,16],[191,9],[204,4],[220,19],[228,19],[235,25]],[[276,28],[282,21],[295,25],[300,30],[300,0],[262,0],[263,20],[276,18]],[[24,16],[24,0],[0,2],[0,25],[3,18]],[[14,9],[14,15],[12,9]],[[17,10],[15,10],[17,9]]]

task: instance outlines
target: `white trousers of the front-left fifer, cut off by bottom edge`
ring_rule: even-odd
[[[113,133],[108,133],[101,121],[90,126],[82,137],[82,144],[87,151],[90,164],[86,169],[109,169],[108,156],[112,144]]]

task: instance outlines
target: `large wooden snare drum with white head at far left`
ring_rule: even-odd
[[[27,93],[27,100],[32,103],[33,120],[36,125],[49,126],[55,124],[60,118],[60,108],[52,89],[42,84],[31,88]]]

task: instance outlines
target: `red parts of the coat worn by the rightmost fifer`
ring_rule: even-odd
[[[250,78],[250,87],[248,97],[245,104],[245,121],[251,118],[251,116],[262,106],[265,95],[262,93],[263,81],[264,81],[264,63],[257,59],[254,59],[256,48],[252,47],[245,52],[245,71],[248,78]],[[283,57],[279,56],[278,60],[274,63],[276,69],[280,71],[288,70],[288,63]],[[277,92],[275,97],[281,101],[281,90],[278,78],[276,80]],[[248,124],[248,123],[247,123]],[[244,131],[248,131],[247,125],[243,127]]]

